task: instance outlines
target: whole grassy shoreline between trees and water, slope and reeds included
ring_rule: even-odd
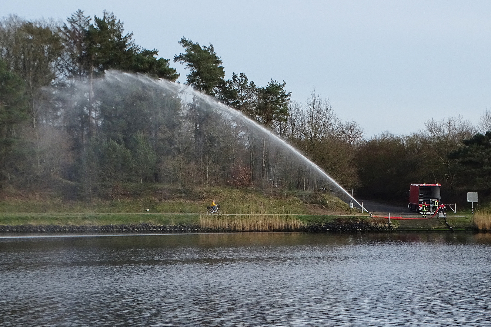
[[[206,216],[211,201],[220,203],[222,217]],[[147,211],[148,209],[148,211]],[[348,215],[346,203],[329,194],[296,191],[263,194],[253,188],[206,187],[184,190],[160,185],[137,197],[77,201],[50,192],[4,195],[0,201],[3,226],[199,226],[234,231],[299,230],[305,226],[386,224],[383,218]],[[487,215],[487,216],[486,216]],[[490,214],[476,215],[481,229],[490,228]],[[487,218],[486,218],[487,217]],[[487,219],[487,220],[486,220]],[[448,217],[455,230],[472,230],[471,216]],[[488,222],[488,223],[486,223]],[[392,221],[400,231],[448,230],[442,219]],[[488,225],[486,225],[488,224]],[[327,227],[326,227],[327,228]]]

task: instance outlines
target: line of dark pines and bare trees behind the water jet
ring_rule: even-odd
[[[366,139],[319,94],[298,102],[285,81],[256,86],[242,72],[225,79],[212,44],[185,37],[179,44],[183,52],[172,61],[188,69],[187,85],[272,130],[360,197],[404,201],[411,182],[442,183],[452,201],[467,191],[489,196],[489,112],[477,127],[462,117],[429,120],[411,135]],[[56,179],[76,185],[80,198],[120,197],[159,183],[326,191],[312,169],[289,165],[265,134],[214,116],[200,99],[184,103],[144,83],[101,86],[108,70],[175,81],[170,65],[158,50],[139,47],[107,11],[90,17],[78,10],[66,22],[3,18],[1,187]]]

